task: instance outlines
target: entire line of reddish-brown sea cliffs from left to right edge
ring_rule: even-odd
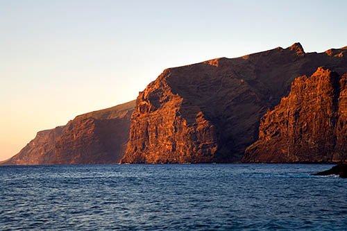
[[[165,69],[136,102],[38,132],[0,164],[346,160],[346,57],[296,43]]]

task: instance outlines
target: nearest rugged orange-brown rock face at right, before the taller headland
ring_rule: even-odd
[[[347,160],[347,74],[319,67],[291,84],[288,97],[260,120],[245,162]]]

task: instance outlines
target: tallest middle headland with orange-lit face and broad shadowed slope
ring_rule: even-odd
[[[260,118],[289,94],[291,82],[321,66],[346,72],[346,54],[305,53],[293,44],[166,69],[137,97],[121,162],[239,162],[257,140]],[[344,124],[339,129],[346,135]]]

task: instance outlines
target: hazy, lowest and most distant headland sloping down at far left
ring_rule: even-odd
[[[27,164],[118,163],[128,140],[135,101],[82,114],[67,125],[37,132],[17,155],[2,162]]]

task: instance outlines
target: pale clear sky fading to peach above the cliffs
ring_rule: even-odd
[[[347,45],[347,1],[0,0],[0,160],[167,67]]]

